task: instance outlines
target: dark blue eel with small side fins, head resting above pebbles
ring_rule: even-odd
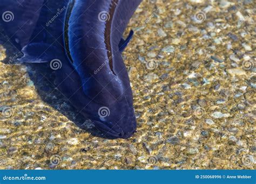
[[[1,0],[1,27],[23,53],[19,62],[59,64],[61,93],[103,135],[126,139],[137,124],[122,59],[133,31],[123,34],[141,1]]]

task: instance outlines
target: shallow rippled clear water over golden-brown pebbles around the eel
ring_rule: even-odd
[[[255,8],[139,6],[124,52],[138,123],[127,140],[98,137],[90,121],[80,129],[62,95],[38,93],[30,66],[0,62],[0,169],[255,169]],[[15,57],[8,44],[0,52]]]

